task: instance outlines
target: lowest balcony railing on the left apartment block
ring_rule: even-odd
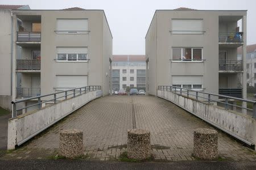
[[[41,94],[41,88],[16,88],[16,97],[34,97]]]

